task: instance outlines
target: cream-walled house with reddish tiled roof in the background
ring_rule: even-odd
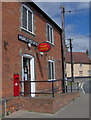
[[[91,76],[91,60],[85,52],[72,52],[73,74],[75,78],[89,78]],[[70,52],[66,53],[66,74],[71,77]]]

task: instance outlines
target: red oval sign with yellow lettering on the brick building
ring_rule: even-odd
[[[44,42],[38,45],[38,50],[40,52],[48,52],[50,49],[51,49],[51,45],[49,43]]]

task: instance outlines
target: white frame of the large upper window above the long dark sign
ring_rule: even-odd
[[[23,7],[27,9],[27,29],[23,27]],[[28,29],[28,11],[32,13],[32,31],[29,31]],[[35,35],[34,34],[34,14],[33,14],[33,11],[29,7],[27,7],[25,4],[22,4],[22,9],[21,9],[21,29]]]

